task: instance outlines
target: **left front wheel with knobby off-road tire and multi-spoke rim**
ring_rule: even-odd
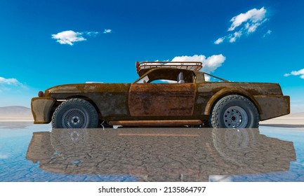
[[[52,117],[53,128],[97,128],[98,113],[90,102],[84,99],[68,99],[55,109]]]

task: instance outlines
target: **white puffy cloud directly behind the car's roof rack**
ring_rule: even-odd
[[[220,55],[212,55],[208,58],[204,55],[193,55],[193,56],[180,56],[180,57],[174,57],[171,61],[173,62],[202,62],[203,68],[202,71],[206,73],[211,73],[218,69],[223,62],[225,62],[226,57],[224,57],[222,54]]]

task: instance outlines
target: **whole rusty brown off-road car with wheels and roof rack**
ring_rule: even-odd
[[[230,82],[201,67],[201,62],[136,62],[140,78],[133,83],[51,87],[32,98],[34,123],[244,128],[289,114],[290,98],[278,83]]]

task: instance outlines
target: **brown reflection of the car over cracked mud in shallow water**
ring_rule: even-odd
[[[258,129],[119,128],[34,132],[27,160],[56,174],[131,174],[138,181],[218,181],[282,172],[293,143]]]

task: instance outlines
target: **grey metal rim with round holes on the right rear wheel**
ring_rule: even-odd
[[[244,109],[239,106],[231,106],[224,112],[225,127],[245,128],[248,123],[248,115]]]

